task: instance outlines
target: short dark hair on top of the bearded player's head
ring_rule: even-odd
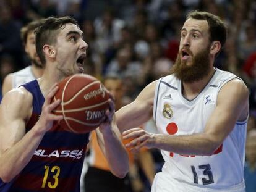
[[[220,17],[210,14],[209,12],[192,11],[187,15],[187,19],[207,20],[210,33],[210,42],[220,41],[221,48],[226,42],[227,28]]]

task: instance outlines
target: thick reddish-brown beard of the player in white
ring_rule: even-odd
[[[187,50],[190,56],[192,52]],[[181,61],[181,52],[179,52],[177,59],[171,69],[171,74],[185,83],[193,83],[194,81],[202,80],[210,72],[210,45],[203,51],[198,52],[192,59],[192,65],[186,65],[186,61]]]

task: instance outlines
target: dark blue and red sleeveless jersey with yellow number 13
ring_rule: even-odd
[[[45,98],[37,80],[23,86],[33,95],[33,112],[26,125],[27,133],[40,117]],[[88,138],[89,133],[71,133],[62,130],[58,123],[54,123],[51,130],[45,133],[32,159],[19,175],[9,183],[3,183],[0,180],[0,191],[79,192]]]

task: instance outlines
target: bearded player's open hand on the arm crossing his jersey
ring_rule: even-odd
[[[142,147],[153,148],[155,143],[155,134],[148,133],[142,128],[132,128],[122,133],[123,139],[132,138],[130,143],[126,144],[126,148],[130,148],[130,151],[138,151]]]

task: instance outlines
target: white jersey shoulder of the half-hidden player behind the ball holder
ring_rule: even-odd
[[[28,83],[29,81],[35,80],[35,76],[32,73],[31,65],[15,72],[12,78],[12,88],[17,88],[20,85]]]

